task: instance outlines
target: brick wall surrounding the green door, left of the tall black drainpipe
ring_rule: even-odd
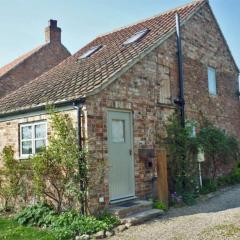
[[[171,73],[169,79],[176,77],[174,59],[159,58],[160,49],[150,53],[139,61],[117,81],[109,85],[99,94],[87,98],[86,109],[88,117],[88,137],[90,155],[94,161],[104,161],[107,164],[107,110],[122,109],[133,112],[133,156],[135,165],[136,196],[145,198],[151,196],[153,178],[156,176],[155,152],[163,124],[174,110],[173,106],[158,104],[159,85],[163,73],[161,64],[168,66]],[[152,166],[147,164],[151,161]],[[104,184],[95,186],[90,193],[92,204],[97,206],[100,196],[109,201],[108,165],[106,165]],[[97,169],[96,169],[97,171]]]

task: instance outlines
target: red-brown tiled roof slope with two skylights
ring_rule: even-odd
[[[194,1],[159,16],[97,37],[47,73],[4,97],[0,101],[0,112],[9,113],[34,108],[47,102],[74,100],[102,89],[156,43],[174,33],[177,12],[180,14],[181,21],[184,22],[206,2],[205,0]],[[141,41],[123,45],[126,39],[144,28],[148,28],[150,32]],[[79,59],[83,53],[96,45],[103,45],[103,47],[90,58]]]

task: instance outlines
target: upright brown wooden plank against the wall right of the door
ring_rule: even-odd
[[[165,149],[157,152],[157,196],[168,207],[167,153]]]

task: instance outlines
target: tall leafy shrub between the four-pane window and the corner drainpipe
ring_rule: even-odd
[[[51,110],[50,119],[53,135],[48,146],[31,159],[33,179],[36,193],[60,212],[76,202],[86,204],[88,166],[70,118]]]

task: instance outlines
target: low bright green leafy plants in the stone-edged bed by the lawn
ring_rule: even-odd
[[[117,217],[106,212],[99,217],[79,215],[74,210],[57,214],[46,204],[25,208],[15,216],[15,219],[22,225],[48,227],[59,240],[110,230],[120,223]]]

